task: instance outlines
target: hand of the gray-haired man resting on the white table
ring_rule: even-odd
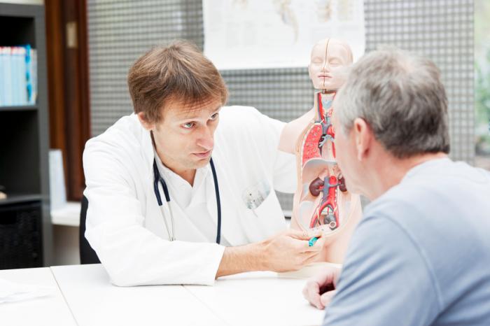
[[[321,274],[310,278],[304,285],[303,296],[312,306],[325,309],[335,295],[335,288],[341,269],[339,267],[325,267]]]

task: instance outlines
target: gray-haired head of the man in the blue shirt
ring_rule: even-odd
[[[429,59],[370,52],[351,67],[334,108],[337,162],[349,189],[365,185],[369,169],[449,153],[446,92]]]

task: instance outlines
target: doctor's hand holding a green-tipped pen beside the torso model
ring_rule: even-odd
[[[314,246],[308,241],[318,237]],[[263,269],[267,271],[297,271],[305,265],[315,262],[320,257],[325,238],[321,231],[301,232],[288,229],[258,243],[262,252]]]

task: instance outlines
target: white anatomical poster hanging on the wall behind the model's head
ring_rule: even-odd
[[[307,66],[322,38],[364,54],[363,0],[203,0],[204,54],[218,69]]]

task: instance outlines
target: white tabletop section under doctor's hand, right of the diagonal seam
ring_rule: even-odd
[[[304,283],[262,271],[184,287],[229,325],[321,325],[324,312],[303,299]]]

